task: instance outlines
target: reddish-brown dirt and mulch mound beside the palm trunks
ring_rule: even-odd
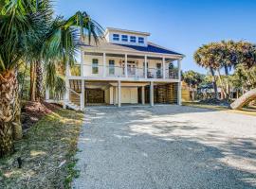
[[[36,122],[46,114],[57,111],[61,108],[58,104],[49,104],[46,102],[27,101],[22,105],[21,123],[24,131],[27,131]]]

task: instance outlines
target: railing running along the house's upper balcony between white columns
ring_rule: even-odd
[[[93,65],[83,64],[83,76],[85,77],[125,77],[124,66]],[[104,74],[105,73],[105,74]],[[81,65],[76,64],[70,69],[71,76],[81,76]],[[145,69],[143,67],[127,67],[127,77],[145,78]],[[163,78],[163,70],[161,68],[147,68],[148,78]],[[178,79],[177,69],[166,69],[165,78]]]

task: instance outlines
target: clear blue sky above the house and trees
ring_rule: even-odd
[[[183,70],[206,73],[192,60],[203,43],[256,43],[254,0],[56,0],[56,14],[87,11],[101,26],[147,31],[150,41],[186,55]]]

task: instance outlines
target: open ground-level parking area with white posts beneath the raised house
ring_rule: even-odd
[[[180,104],[178,82],[69,80],[64,107]]]

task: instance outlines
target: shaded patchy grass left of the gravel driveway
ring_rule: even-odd
[[[0,160],[0,188],[70,188],[79,176],[74,155],[82,118],[82,112],[57,110],[28,129],[16,152]]]

